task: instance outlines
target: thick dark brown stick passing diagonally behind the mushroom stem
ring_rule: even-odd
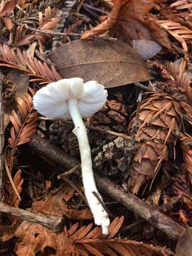
[[[79,164],[77,159],[65,154],[61,149],[58,149],[50,144],[50,142],[41,139],[41,137],[37,135],[33,136],[28,145],[31,146],[36,153],[42,154],[44,157],[46,156],[48,159],[51,159],[53,163],[59,164],[65,169],[71,169]],[[103,178],[98,175],[95,175],[95,178],[97,186],[101,191],[107,193],[107,195],[115,201],[122,203],[122,205],[129,210],[137,213],[137,215],[144,218],[144,220],[148,221],[151,225],[154,225],[156,228],[166,233],[166,235],[169,235],[170,238],[178,239],[186,230],[180,224],[154,208],[154,206],[145,203],[132,193],[123,191],[121,186],[116,185],[108,178]]]

